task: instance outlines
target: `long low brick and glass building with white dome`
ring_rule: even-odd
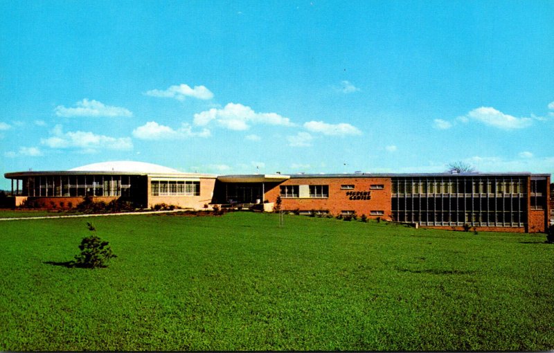
[[[542,232],[550,175],[530,173],[248,174],[183,173],[140,162],[106,162],[58,172],[13,172],[15,205],[69,208],[85,196],[202,210],[258,205],[299,214],[366,215],[426,227]]]

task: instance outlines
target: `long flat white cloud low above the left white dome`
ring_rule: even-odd
[[[92,132],[63,132],[62,125],[56,125],[48,138],[41,138],[40,143],[50,148],[66,149],[77,148],[96,152],[98,150],[128,151],[133,149],[131,138],[114,138],[96,135]]]

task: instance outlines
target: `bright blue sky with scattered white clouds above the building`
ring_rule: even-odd
[[[0,4],[2,174],[554,172],[551,0]]]

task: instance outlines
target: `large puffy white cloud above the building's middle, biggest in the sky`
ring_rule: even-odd
[[[230,130],[246,130],[249,124],[267,124],[280,126],[294,126],[289,118],[276,113],[256,113],[251,107],[241,104],[229,103],[223,109],[212,108],[202,111],[194,116],[194,124],[208,125],[214,121],[220,127]]]

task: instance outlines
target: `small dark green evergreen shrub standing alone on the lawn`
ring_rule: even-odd
[[[109,243],[103,241],[96,235],[96,228],[92,223],[87,222],[87,228],[89,228],[93,234],[81,240],[81,244],[79,245],[81,253],[75,255],[75,260],[71,262],[71,265],[89,269],[107,267],[109,259],[117,256],[112,253],[111,246],[108,245]]]

